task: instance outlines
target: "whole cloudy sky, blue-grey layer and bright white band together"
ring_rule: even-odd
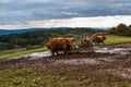
[[[0,29],[130,25],[131,0],[0,0]]]

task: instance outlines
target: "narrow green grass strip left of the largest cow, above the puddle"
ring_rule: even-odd
[[[12,58],[12,57],[17,57],[21,54],[41,52],[41,51],[46,51],[46,50],[47,50],[47,48],[37,48],[37,49],[32,49],[32,50],[24,50],[24,51],[19,51],[19,52],[13,52],[13,53],[0,54],[0,59],[8,59],[8,58]]]

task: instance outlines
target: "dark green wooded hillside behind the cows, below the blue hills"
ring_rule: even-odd
[[[0,36],[0,50],[44,46],[50,37],[74,37],[87,36],[96,32],[102,32],[92,28],[66,28],[57,30],[39,30],[28,32],[23,34],[11,34]]]

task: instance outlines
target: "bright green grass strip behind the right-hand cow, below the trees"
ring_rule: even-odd
[[[106,45],[123,44],[123,42],[131,42],[131,37],[107,36],[107,39],[105,40]]]

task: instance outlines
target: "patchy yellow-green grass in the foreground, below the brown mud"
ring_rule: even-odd
[[[7,69],[0,71],[0,87],[130,87],[124,82],[93,82],[90,78],[78,79],[72,76],[49,73],[44,66]],[[67,72],[68,73],[68,72]],[[78,77],[78,76],[76,76]],[[81,78],[81,77],[80,77]]]

